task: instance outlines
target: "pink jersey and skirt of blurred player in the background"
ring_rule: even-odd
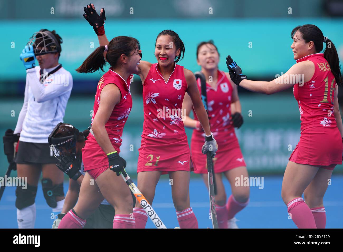
[[[223,71],[218,70],[218,81],[215,88],[206,83],[207,103],[211,132],[217,143],[218,151],[213,158],[214,172],[221,173],[240,166],[246,166],[239,143],[229,117],[231,116],[231,101],[233,87]],[[201,93],[201,83],[198,80]],[[194,112],[194,110],[193,110]],[[198,120],[196,113],[194,119]],[[201,153],[204,143],[204,132],[193,130],[191,153],[197,167],[195,173],[207,173],[206,156]]]

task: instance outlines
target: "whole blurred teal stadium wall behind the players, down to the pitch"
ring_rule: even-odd
[[[60,63],[71,72],[74,86],[64,122],[80,130],[91,122],[95,88],[101,73],[78,74],[74,69],[98,46],[92,27],[83,18],[85,1],[2,0],[0,16],[0,134],[15,128],[23,103],[25,70],[19,55],[29,37],[39,29],[53,30],[63,38]],[[143,60],[156,62],[155,39],[163,29],[173,29],[184,41],[186,53],[179,64],[191,71],[196,63],[196,47],[213,39],[221,55],[219,68],[226,71],[225,58],[232,58],[253,80],[272,80],[294,63],[290,33],[297,25],[315,24],[328,36],[343,60],[343,1],[225,1],[175,0],[94,1],[99,12],[106,11],[108,39],[118,35],[137,38]],[[132,9],[133,8],[133,9]],[[212,8],[212,9],[211,9]],[[122,156],[134,172],[143,123],[142,87],[138,76],[131,83],[134,105],[126,124]],[[292,90],[272,96],[239,89],[245,123],[237,135],[248,166],[253,173],[283,173],[300,136],[300,118]],[[340,101],[343,104],[343,100]],[[14,116],[13,115],[14,111]],[[249,113],[250,116],[249,117]],[[191,130],[187,130],[189,140]],[[133,151],[130,151],[133,147]],[[0,176],[7,159],[0,152]],[[343,172],[340,165],[335,172]]]

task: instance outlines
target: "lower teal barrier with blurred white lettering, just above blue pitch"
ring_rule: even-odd
[[[289,145],[293,151],[300,136],[300,115],[296,100],[292,94],[241,95],[240,100],[244,124],[236,133],[249,173],[283,174],[291,155],[291,151],[288,151]],[[93,104],[94,97],[71,97],[64,122],[74,125],[79,130],[86,129],[91,123]],[[138,148],[143,129],[142,104],[141,97],[134,97],[132,112],[122,137],[120,155],[127,160],[127,171],[130,172],[130,176],[135,176],[137,171]],[[0,118],[3,119],[0,134],[3,135],[7,128],[15,127],[22,99],[2,99],[0,106]],[[12,110],[14,117],[11,117]],[[249,112],[252,114],[251,117]],[[192,131],[186,129],[186,132],[190,141]],[[130,151],[131,144],[133,151]],[[3,152],[0,152],[0,158],[1,176],[8,164]],[[338,165],[334,170],[334,173],[342,172],[342,165]]]

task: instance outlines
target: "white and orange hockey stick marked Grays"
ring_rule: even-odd
[[[139,189],[136,187],[136,185],[133,183],[130,176],[126,173],[126,171],[123,169],[120,171],[121,177],[124,179],[125,183],[129,186],[131,192],[136,197],[136,199],[139,201],[141,206],[143,207],[146,214],[150,217],[156,228],[167,228],[162,220],[158,217],[155,210],[152,208],[152,206],[149,204],[149,202],[145,199],[144,195],[139,191]]]

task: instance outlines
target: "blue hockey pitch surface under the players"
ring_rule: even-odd
[[[165,178],[165,179],[164,179]],[[167,228],[178,227],[175,208],[171,199],[171,186],[166,175],[161,177],[157,187],[153,207]],[[136,183],[137,181],[135,181]],[[296,228],[292,220],[288,219],[287,207],[281,199],[281,176],[264,177],[263,189],[250,187],[249,205],[236,215],[239,228]],[[225,181],[227,196],[230,186]],[[68,183],[64,182],[64,192],[68,190]],[[327,228],[343,228],[343,176],[332,176],[324,197],[327,214]],[[199,228],[212,228],[209,219],[209,194],[200,178],[190,181],[191,207],[198,219]],[[7,187],[0,202],[0,228],[17,228],[15,188]],[[37,216],[35,228],[51,228],[51,208],[43,197],[42,185],[38,185],[36,196]],[[146,228],[154,228],[148,219]]]

